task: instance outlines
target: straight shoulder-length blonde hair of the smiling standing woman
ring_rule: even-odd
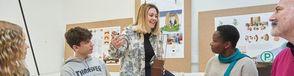
[[[150,8],[156,9],[156,12],[157,12],[157,23],[152,29],[150,28],[149,22],[147,21],[147,12]],[[135,25],[137,25],[138,33],[143,33],[143,34],[152,33],[154,35],[157,35],[160,32],[159,11],[157,7],[154,4],[146,4],[146,3],[142,4],[140,6],[136,22],[134,24],[131,24],[130,26],[135,26]]]

